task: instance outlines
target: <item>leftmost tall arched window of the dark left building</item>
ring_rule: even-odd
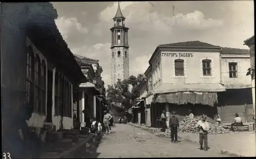
[[[34,63],[34,52],[31,46],[28,47],[27,51],[27,80],[26,80],[26,85],[27,85],[27,102],[28,103],[33,103],[33,63]]]

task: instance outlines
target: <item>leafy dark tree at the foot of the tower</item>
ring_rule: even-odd
[[[131,101],[138,98],[140,91],[138,86],[140,82],[145,78],[144,74],[138,74],[138,76],[131,75],[127,80],[121,81],[118,79],[114,86],[108,86],[106,90],[106,99],[108,100],[110,109],[114,109],[118,112],[129,109],[131,107]],[[129,87],[132,87],[130,92]]]

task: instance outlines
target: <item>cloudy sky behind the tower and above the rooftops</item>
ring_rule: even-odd
[[[111,31],[117,2],[52,2],[58,29],[73,54],[99,60],[111,84]],[[130,28],[130,75],[144,73],[159,44],[201,41],[246,48],[254,35],[253,1],[120,2]]]

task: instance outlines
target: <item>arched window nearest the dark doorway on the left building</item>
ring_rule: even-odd
[[[41,64],[41,105],[42,113],[46,113],[46,64],[42,61]]]

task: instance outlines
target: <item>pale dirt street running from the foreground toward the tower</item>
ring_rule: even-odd
[[[209,147],[210,147],[209,143]],[[104,134],[97,151],[86,157],[226,157],[219,150],[199,150],[199,144],[181,141],[173,144],[140,128],[115,124]]]

